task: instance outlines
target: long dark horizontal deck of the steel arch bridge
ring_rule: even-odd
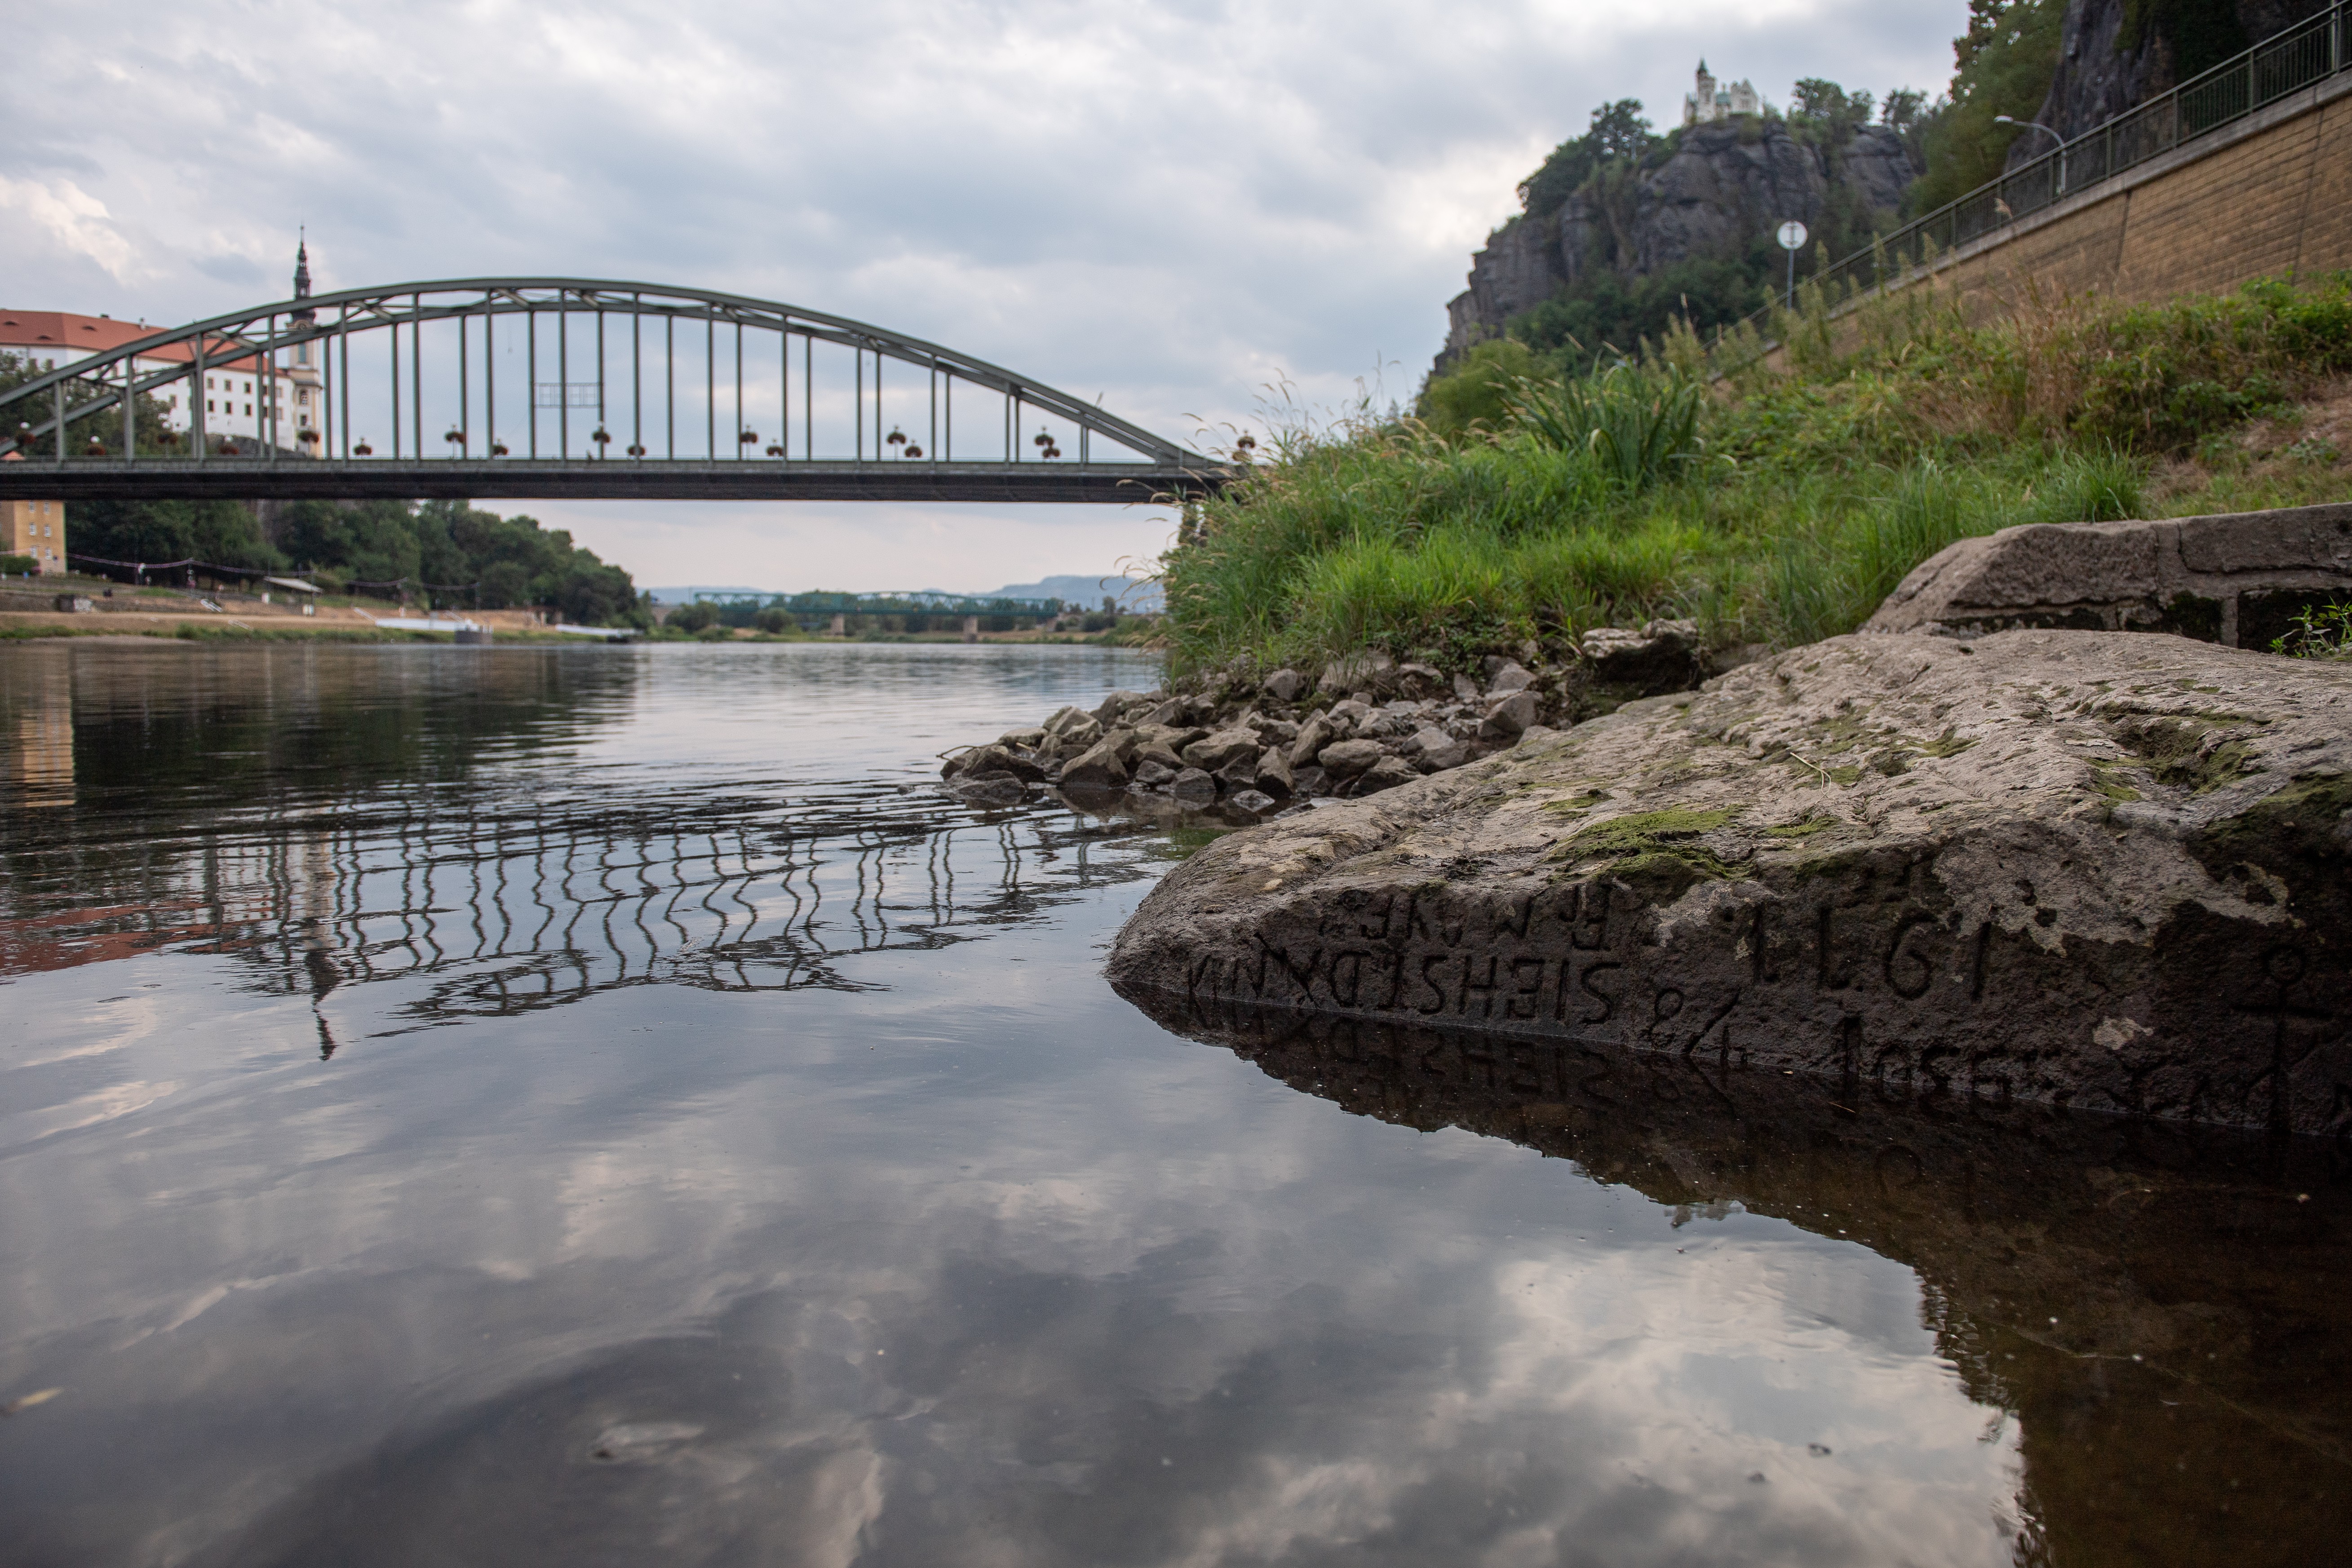
[[[24,458],[0,501],[1091,501],[1202,496],[1214,468],[757,458]]]

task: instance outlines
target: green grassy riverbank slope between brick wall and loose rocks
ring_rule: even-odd
[[[1712,383],[1689,334],[1569,383],[1491,343],[1428,418],[1277,428],[1164,562],[1176,665],[1458,663],[1653,616],[1788,646],[1971,534],[2352,496],[2352,275],[1980,327],[1813,301],[1783,341]]]

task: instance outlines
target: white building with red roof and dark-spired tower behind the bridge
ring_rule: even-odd
[[[308,296],[308,247],[296,247],[294,299]],[[108,315],[73,315],[71,310],[0,310],[0,355],[26,357],[33,362],[33,369],[52,371],[64,364],[73,364],[75,360],[87,360],[89,355],[136,343],[151,331],[153,327],[146,322],[118,322]],[[165,425],[186,435],[193,425],[191,397],[202,397],[205,433],[214,440],[259,440],[270,435],[270,430],[263,430],[263,423],[268,421],[280,447],[322,454],[320,442],[327,425],[327,397],[320,381],[320,367],[313,364],[310,343],[296,343],[289,360],[275,367],[275,418],[270,418],[273,402],[268,397],[266,367],[259,364],[254,355],[235,357],[235,343],[207,343],[202,388],[191,388],[183,378],[158,390],[155,400],[165,407]],[[219,355],[219,364],[212,362],[214,355]],[[151,355],[136,355],[132,364],[139,376],[146,378],[153,371],[186,367],[191,360],[195,360],[191,343],[165,343]],[[24,404],[16,407],[21,409]],[[26,414],[12,409],[12,423],[21,423],[26,418]],[[0,435],[14,435],[14,430]]]

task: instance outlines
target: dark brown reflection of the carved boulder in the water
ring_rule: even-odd
[[[1573,1159],[1677,1227],[1736,1204],[1910,1265],[1969,1394],[2020,1422],[2020,1563],[2312,1563],[2352,1528],[2343,1140],[1129,999],[1355,1114]]]

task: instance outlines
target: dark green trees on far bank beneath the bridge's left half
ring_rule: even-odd
[[[266,522],[263,522],[266,520]],[[463,501],[85,501],[73,552],[115,562],[200,559],[292,571],[329,592],[430,597],[473,609],[543,607],[579,625],[637,623],[628,571],[534,517],[499,517]]]

